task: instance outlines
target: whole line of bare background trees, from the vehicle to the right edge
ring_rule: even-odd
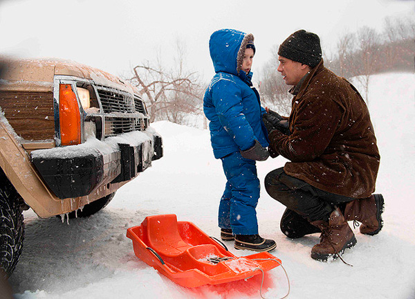
[[[259,93],[264,107],[288,115],[291,98],[288,86],[277,72],[279,45],[259,73]],[[323,49],[324,55],[324,49]],[[133,67],[131,78],[140,96],[145,100],[151,122],[169,120],[181,125],[192,125],[189,116],[203,114],[203,92],[207,87],[196,71],[185,67],[185,46],[176,43],[176,56],[171,69],[166,69],[158,58],[156,63],[145,62]],[[356,77],[362,96],[367,100],[369,78],[387,71],[415,71],[414,19],[385,19],[382,33],[362,27],[356,33],[347,33],[338,39],[335,54],[324,55],[324,64],[337,75]]]

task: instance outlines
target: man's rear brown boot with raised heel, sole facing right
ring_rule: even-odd
[[[372,194],[365,199],[356,199],[346,204],[344,217],[347,221],[359,221],[360,233],[376,235],[383,226],[382,212],[384,208],[382,194]]]

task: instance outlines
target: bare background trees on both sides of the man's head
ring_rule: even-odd
[[[261,100],[284,114],[291,109],[288,87],[277,72],[278,45],[273,57],[261,72]],[[323,49],[324,55],[324,49]],[[356,77],[362,96],[367,99],[369,78],[387,71],[415,71],[414,19],[385,19],[382,33],[362,27],[356,33],[340,36],[333,57],[324,55],[324,65],[344,78]]]

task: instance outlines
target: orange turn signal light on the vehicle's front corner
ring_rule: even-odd
[[[59,126],[61,145],[81,143],[81,115],[71,84],[59,85]]]

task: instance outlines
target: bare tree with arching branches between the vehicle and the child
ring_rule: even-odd
[[[131,84],[138,87],[140,96],[147,103],[150,120],[169,120],[185,123],[187,114],[200,114],[203,90],[196,72],[185,70],[185,46],[176,44],[174,66],[165,70],[158,59],[158,66],[149,62],[133,68]]]

